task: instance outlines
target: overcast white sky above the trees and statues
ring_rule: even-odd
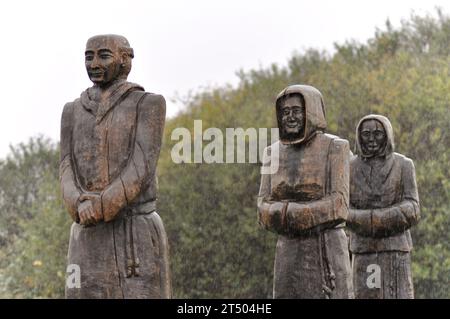
[[[449,0],[2,1],[0,158],[37,134],[59,140],[64,103],[91,85],[92,35],[126,36],[135,51],[128,79],[163,94],[173,116],[177,94],[236,84],[237,70],[285,64],[294,51],[365,41],[387,18],[398,26],[436,6],[450,12]]]

